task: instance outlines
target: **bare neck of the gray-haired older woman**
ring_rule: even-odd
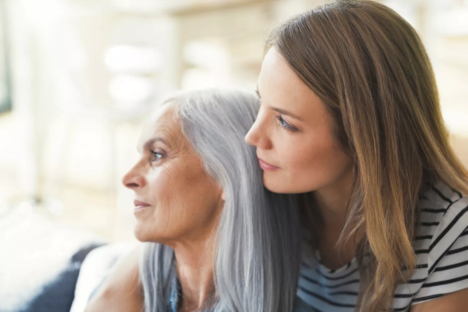
[[[213,249],[213,239],[191,241],[174,248],[183,293],[179,311],[195,311],[215,295]]]

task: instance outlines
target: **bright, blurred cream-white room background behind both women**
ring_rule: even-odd
[[[0,216],[133,237],[121,177],[155,103],[254,88],[271,29],[314,0],[0,0]],[[420,33],[468,166],[468,0],[387,0]]]

